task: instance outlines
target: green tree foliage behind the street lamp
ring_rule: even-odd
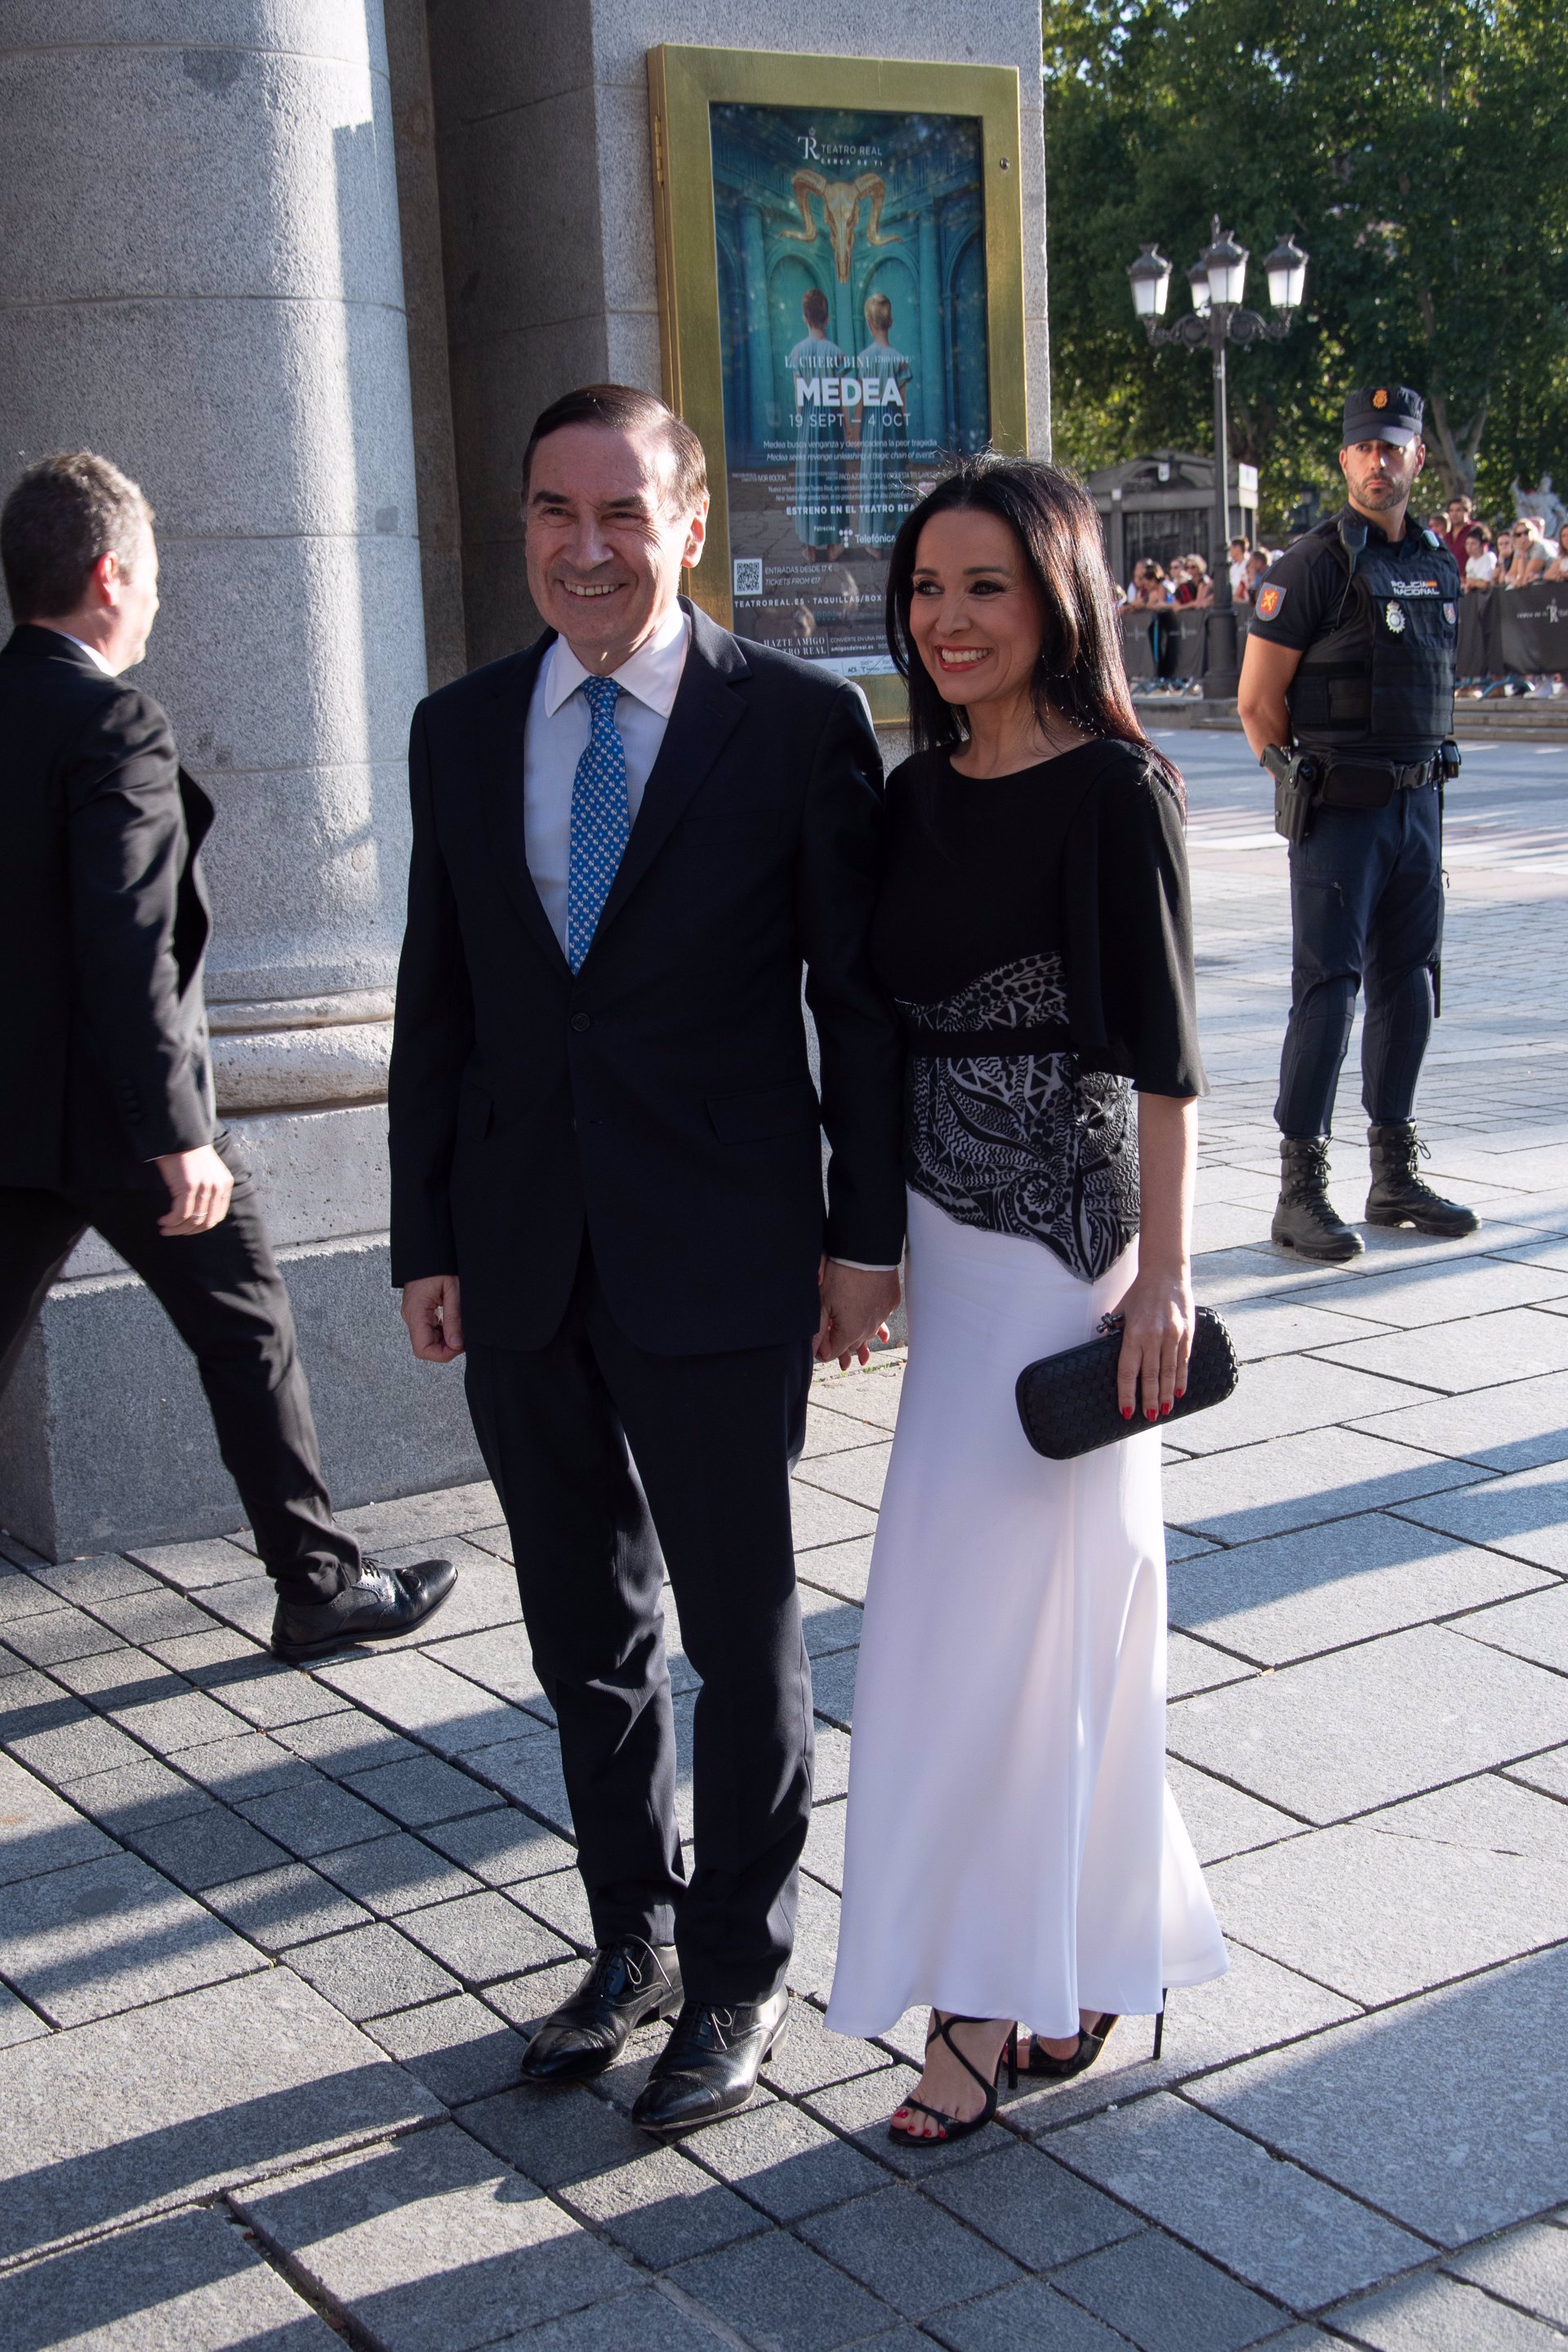
[[[1568,38],[1549,0],[1044,0],[1058,454],[1211,447],[1206,355],[1150,350],[1126,263],[1154,238],[1171,310],[1218,212],[1312,254],[1284,343],[1229,353],[1232,454],[1265,522],[1338,492],[1340,400],[1427,395],[1443,492],[1507,506],[1568,475]],[[1434,480],[1436,494],[1436,480]]]

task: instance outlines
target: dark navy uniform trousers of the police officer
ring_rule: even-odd
[[[1375,1127],[1408,1120],[1432,1035],[1432,964],[1443,946],[1436,786],[1387,809],[1319,809],[1291,844],[1291,1021],[1274,1120],[1326,1136],[1366,981],[1361,1103]]]

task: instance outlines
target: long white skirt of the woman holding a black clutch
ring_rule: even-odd
[[[1034,1454],[1013,1383],[1093,1338],[1079,1282],[910,1195],[910,1369],[872,1552],[827,2023],[917,2004],[1070,2037],[1227,1969],[1166,1788],[1159,1430]]]

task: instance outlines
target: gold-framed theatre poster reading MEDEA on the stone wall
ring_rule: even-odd
[[[1025,447],[1018,75],[656,49],[665,397],[708,449],[689,588],[903,715],[903,517],[959,452]]]

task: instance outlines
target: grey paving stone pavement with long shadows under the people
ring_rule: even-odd
[[[590,1931],[489,1486],[350,1515],[461,1585],[428,1639],[315,1675],[263,1653],[242,1534],[59,1566],[0,1538],[7,2352],[1568,2343],[1568,746],[1467,746],[1450,795],[1422,1131],[1486,1225],[1324,1270],[1267,1242],[1262,779],[1232,736],[1166,741],[1213,1080],[1197,1284],[1246,1362],[1168,1449],[1171,1783],[1232,1973],[1171,2002],[1159,2063],[1128,2020],[994,2131],[889,2145],[922,2020],[846,2042],[820,2011],[896,1357],[818,1381],[795,1486],[792,2030],[679,2147],[628,2119],[656,2032],[592,2091],[515,2084]],[[1359,1134],[1352,1073],[1347,1214]],[[675,1621],[672,1670],[686,1759]]]

